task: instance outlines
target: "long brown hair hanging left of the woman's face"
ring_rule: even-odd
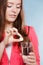
[[[6,11],[7,0],[0,0],[0,39],[5,28],[5,11]]]

